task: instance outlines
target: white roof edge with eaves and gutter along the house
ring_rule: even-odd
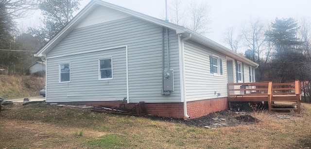
[[[231,58],[234,59],[238,59],[242,62],[245,62],[247,64],[249,64],[250,66],[259,66],[257,63],[247,59],[246,57],[237,54],[236,52],[229,50],[227,48],[225,48],[224,46],[208,39],[207,37],[196,33],[190,29],[187,29],[185,27],[155,18],[155,17],[151,17],[142,13],[138,13],[136,11],[118,6],[118,5],[114,5],[102,0],[91,0],[85,8],[83,8],[65,27],[63,27],[63,29],[61,31],[59,31],[56,35],[54,35],[52,37],[52,39],[47,42],[40,50],[38,50],[34,55],[36,57],[45,57],[46,53],[48,53],[50,50],[52,50],[52,48],[58,43],[60,42],[68,33],[70,33],[74,27],[79,23],[79,21],[83,20],[84,17],[87,16],[87,14],[89,14],[93,8],[97,7],[97,6],[104,6],[107,8],[111,8],[120,12],[123,12],[125,14],[134,16],[134,17],[138,17],[140,19],[155,23],[157,25],[160,26],[164,26],[167,28],[170,28],[172,30],[175,30],[177,34],[182,34],[184,36],[189,36],[189,34],[191,34],[190,40],[193,40],[197,43],[200,43],[204,46],[207,46],[213,50],[217,50],[225,55],[230,56]]]

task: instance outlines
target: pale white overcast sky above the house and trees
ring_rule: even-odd
[[[90,0],[82,0],[80,8],[86,6]],[[159,18],[165,10],[165,0],[104,0],[152,17]],[[168,4],[172,0],[167,0]],[[272,22],[276,17],[311,18],[311,0],[195,0],[207,2],[211,11],[209,17],[210,32],[207,37],[222,45],[222,34],[227,27],[239,28],[250,18]],[[184,0],[183,3],[190,3]],[[32,26],[38,21],[38,16],[21,20],[21,24]]]

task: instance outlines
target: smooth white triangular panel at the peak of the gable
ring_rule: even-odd
[[[130,17],[130,15],[113,10],[111,8],[99,6],[95,8],[90,14],[88,14],[85,19],[81,21],[81,23],[79,23],[75,28],[82,28],[94,24],[118,20],[125,17]]]

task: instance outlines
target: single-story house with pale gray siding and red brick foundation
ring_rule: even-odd
[[[92,0],[35,53],[46,59],[46,101],[145,102],[149,115],[195,118],[225,110],[227,83],[259,65],[190,29]]]

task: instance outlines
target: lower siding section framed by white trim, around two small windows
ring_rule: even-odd
[[[101,58],[112,57],[113,80],[99,80]],[[125,47],[48,59],[47,101],[114,100],[126,97]],[[59,63],[70,63],[70,82],[59,83]]]

